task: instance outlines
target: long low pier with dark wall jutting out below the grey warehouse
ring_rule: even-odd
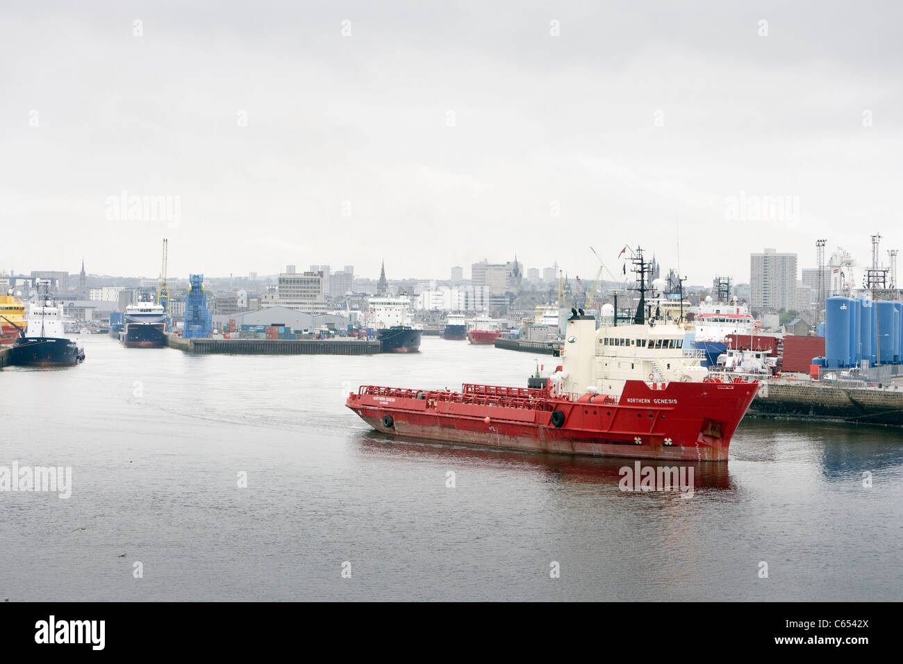
[[[379,341],[364,339],[182,339],[167,334],[180,351],[226,355],[375,355]]]

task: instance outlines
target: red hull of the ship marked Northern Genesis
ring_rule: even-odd
[[[725,462],[758,388],[759,383],[720,381],[650,388],[629,381],[617,404],[529,390],[526,400],[510,402],[519,406],[507,407],[504,399],[468,403],[461,393],[368,387],[349,395],[346,406],[377,431],[405,438],[550,454]],[[554,411],[563,414],[562,426],[554,426]]]

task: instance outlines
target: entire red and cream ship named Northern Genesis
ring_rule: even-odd
[[[684,461],[728,459],[759,381],[714,378],[684,356],[684,328],[647,314],[649,264],[638,248],[639,303],[628,322],[572,309],[562,364],[526,388],[460,392],[361,386],[346,407],[388,435],[556,454]],[[614,312],[614,315],[612,313]]]

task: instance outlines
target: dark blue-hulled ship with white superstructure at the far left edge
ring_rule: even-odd
[[[23,329],[8,318],[19,333],[10,348],[9,363],[17,367],[72,367],[85,359],[85,351],[66,339],[61,307],[48,295],[50,281],[37,279],[37,299],[29,306]]]

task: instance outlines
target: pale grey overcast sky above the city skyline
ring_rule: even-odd
[[[898,3],[11,5],[0,268],[156,276],[165,237],[171,276],[591,278],[679,239],[703,284],[903,248]]]

